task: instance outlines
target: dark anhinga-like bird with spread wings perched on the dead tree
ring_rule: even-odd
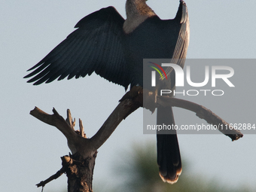
[[[189,43],[187,7],[180,1],[173,20],[160,20],[146,0],[126,0],[126,20],[114,7],[102,8],[81,19],[76,29],[57,45],[24,78],[50,83],[56,78],[97,75],[125,89],[143,86],[143,59],[171,58],[182,68]],[[175,88],[175,72],[158,86]],[[162,86],[162,87],[161,87]],[[150,87],[146,87],[150,89]],[[152,88],[151,88],[152,89]],[[174,124],[172,108],[157,108],[157,124]],[[181,174],[181,156],[176,134],[157,134],[157,163],[163,181],[175,183]]]

